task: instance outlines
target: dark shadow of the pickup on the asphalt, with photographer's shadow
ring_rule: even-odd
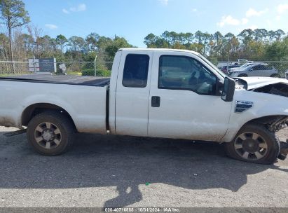
[[[25,135],[2,134],[0,188],[116,186],[118,197],[105,207],[139,202],[140,184],[238,191],[248,174],[278,169],[227,158],[223,146],[212,142],[81,134],[71,151],[47,157],[27,146]]]

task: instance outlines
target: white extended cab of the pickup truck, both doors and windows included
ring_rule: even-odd
[[[198,53],[122,49],[114,64],[112,133],[213,141],[224,137],[232,108],[219,92],[225,76]]]

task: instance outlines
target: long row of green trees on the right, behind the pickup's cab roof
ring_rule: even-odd
[[[177,33],[165,31],[160,36],[148,34],[144,43],[148,48],[174,48],[194,50],[198,53],[217,60],[282,60],[285,58],[288,48],[288,37],[278,29],[267,31],[266,29],[244,29],[240,34],[220,32],[209,34],[197,31],[192,33]]]

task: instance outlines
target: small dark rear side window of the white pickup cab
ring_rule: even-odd
[[[129,88],[145,88],[149,69],[149,55],[126,56],[122,84]]]

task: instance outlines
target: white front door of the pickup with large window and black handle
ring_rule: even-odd
[[[217,76],[196,56],[171,54],[154,53],[149,136],[221,140],[232,102],[216,95]]]

